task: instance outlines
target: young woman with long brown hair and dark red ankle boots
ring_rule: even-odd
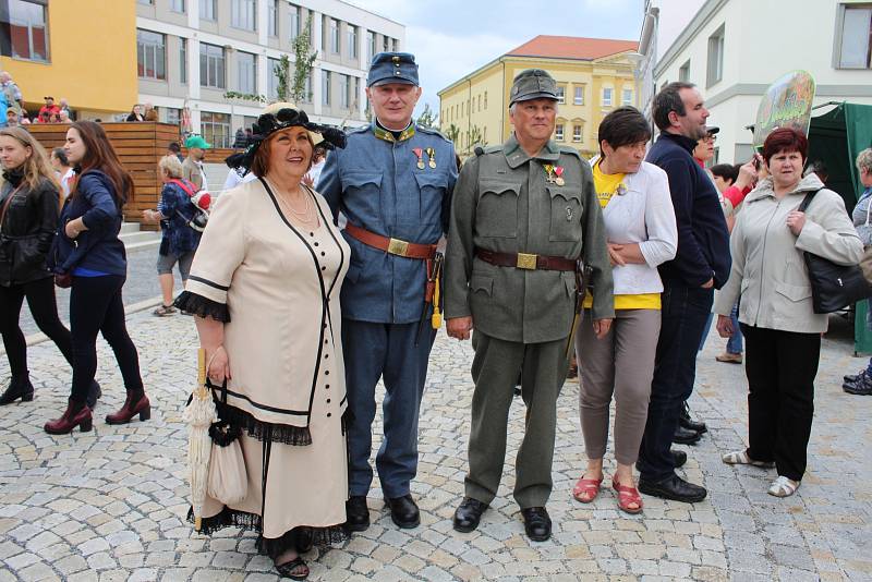
[[[87,393],[97,371],[97,335],[102,334],[114,352],[128,397],[109,424],[123,424],[152,414],[140,374],[140,356],[124,323],[121,288],[128,260],[118,234],[121,209],[133,197],[133,179],[118,159],[102,128],[76,121],[66,130],[63,146],[76,168],[74,186],[61,211],[60,228],[49,256],[49,267],[70,290],[70,329],[73,345],[73,386],[69,405],[60,419],[46,423],[47,433],[59,435],[80,426],[90,431]]]

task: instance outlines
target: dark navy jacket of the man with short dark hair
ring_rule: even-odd
[[[658,269],[664,284],[700,287],[714,278],[720,289],[729,278],[729,231],[717,189],[691,156],[697,141],[662,133],[645,158],[669,178],[678,253]]]

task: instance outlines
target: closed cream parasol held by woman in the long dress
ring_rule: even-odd
[[[209,426],[218,421],[218,413],[211,399],[211,389],[206,386],[206,351],[197,350],[197,385],[191,395],[191,402],[184,409],[182,419],[189,425],[187,432],[187,481],[191,484],[191,509],[194,513],[194,530],[201,529],[203,501],[206,499],[206,482],[209,475],[211,438]]]

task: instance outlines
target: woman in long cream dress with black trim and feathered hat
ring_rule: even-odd
[[[210,383],[227,383],[219,415],[242,432],[247,474],[240,502],[207,497],[203,531],[255,530],[279,573],[303,580],[301,554],[343,538],[339,289],[349,247],[327,203],[301,181],[314,140],[342,147],[344,134],[281,106],[258,118],[254,140],[230,160],[261,178],[218,198],[175,304],[197,316]]]

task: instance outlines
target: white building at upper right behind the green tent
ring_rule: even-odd
[[[814,76],[816,104],[872,104],[872,4],[868,0],[705,0],[668,46],[656,46],[675,7],[651,0],[647,15],[659,23],[643,26],[640,52],[652,61],[650,96],[673,81],[695,83],[711,111],[708,123],[720,128],[716,161],[746,161],[752,151],[758,105],[766,87],[783,74],[801,69]],[[693,2],[680,2],[686,9]],[[651,5],[654,4],[654,5]],[[659,7],[657,7],[659,5]],[[652,11],[652,8],[659,8]],[[659,14],[657,14],[659,12]],[[654,47],[652,47],[652,43]],[[647,52],[645,52],[646,49]],[[645,70],[641,70],[642,76]],[[650,98],[647,97],[650,102]]]

